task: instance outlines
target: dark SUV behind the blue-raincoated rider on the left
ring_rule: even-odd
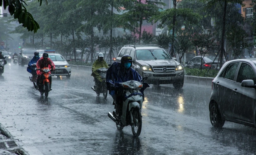
[[[19,66],[24,67],[33,58],[36,49],[21,49],[18,57]]]

